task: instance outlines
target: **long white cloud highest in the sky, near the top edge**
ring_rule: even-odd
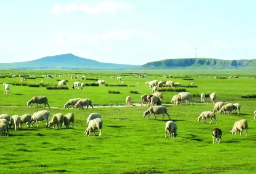
[[[130,9],[132,9],[132,4],[116,1],[106,1],[99,3],[94,7],[87,4],[77,5],[76,3],[71,3],[68,5],[57,4],[52,8],[52,13],[60,14],[62,12],[85,12],[88,14],[98,14],[101,12],[115,13],[117,11],[128,11]]]

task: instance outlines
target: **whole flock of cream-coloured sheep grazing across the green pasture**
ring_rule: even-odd
[[[43,75],[44,76],[44,75]],[[22,77],[22,76],[20,76]],[[53,76],[51,75],[47,75],[48,78],[53,78]],[[81,80],[84,80],[85,76],[81,77]],[[111,78],[113,78],[114,76],[112,76]],[[135,78],[144,78],[146,76],[134,76]],[[14,78],[14,77],[13,77]],[[77,80],[78,76],[71,76],[71,79],[75,79]],[[163,76],[163,78],[166,78],[166,76]],[[238,77],[234,77],[234,78],[238,78]],[[121,77],[117,77],[117,80],[121,81],[122,78]],[[22,81],[25,82],[26,80],[24,78],[22,78]],[[124,83],[124,82],[122,82]],[[105,80],[98,80],[98,84],[99,86],[105,84]],[[139,82],[137,82],[137,85],[139,84]],[[146,106],[148,105],[148,109],[143,113],[143,116],[146,117],[149,116],[150,114],[154,114],[154,118],[156,120],[156,115],[162,114],[162,120],[164,119],[164,114],[166,114],[170,120],[170,115],[167,112],[167,108],[165,106],[162,106],[162,101],[161,99],[163,99],[163,93],[162,92],[157,92],[157,90],[159,88],[162,88],[163,86],[166,87],[172,87],[175,88],[177,86],[180,86],[180,83],[174,83],[174,81],[160,81],[158,82],[157,80],[152,80],[150,82],[145,82],[145,84],[148,84],[150,89],[152,88],[152,95],[147,95],[144,94],[141,96],[141,106],[144,106],[144,103],[146,103]],[[3,84],[4,85],[4,94],[8,92],[10,92],[10,85],[9,84]],[[58,86],[65,86],[66,85],[66,80],[61,80],[58,82]],[[77,88],[79,89],[79,82],[74,82],[73,85],[73,89]],[[191,83],[191,85],[193,85],[193,82]],[[84,83],[81,83],[81,88],[84,89]],[[190,94],[189,92],[180,92],[177,95],[174,95],[172,97],[171,102],[173,104],[178,104],[178,103],[182,103],[186,100],[186,103],[191,103],[192,104],[192,94]],[[205,94],[202,93],[201,94],[201,102],[205,102]],[[198,117],[198,122],[200,120],[202,120],[204,123],[206,122],[206,118],[210,118],[210,124],[212,122],[212,118],[214,118],[214,120],[216,121],[216,124],[218,124],[217,119],[216,119],[216,114],[215,112],[217,111],[219,114],[231,114],[233,112],[233,110],[237,110],[238,114],[240,112],[240,108],[241,105],[236,103],[236,104],[226,104],[224,105],[224,102],[216,102],[216,93],[212,93],[210,94],[210,99],[211,99],[211,103],[214,104],[214,108],[212,109],[212,111],[205,111],[202,112],[200,114],[200,116]],[[126,106],[131,106],[131,102],[132,102],[132,98],[130,96],[126,97]],[[48,106],[48,108],[50,108],[49,104],[48,104],[48,99],[45,96],[34,96],[32,99],[30,99],[27,102],[27,106],[30,106],[30,108],[32,107],[32,104],[36,104],[38,107],[38,104],[44,104],[44,108],[46,107],[46,105]],[[88,98],[74,98],[74,99],[70,99],[68,100],[68,102],[66,102],[66,104],[64,104],[64,108],[69,108],[69,106],[73,106],[73,108],[78,108],[78,109],[84,109],[84,106],[87,106],[86,110],[88,109],[88,106],[91,106],[92,109],[92,101]],[[55,125],[57,124],[58,129],[62,128],[62,124],[64,124],[66,126],[66,128],[69,127],[70,122],[72,122],[73,124],[73,128],[74,128],[74,114],[72,113],[68,113],[66,115],[63,115],[61,113],[57,113],[52,117],[52,120],[50,120],[50,122],[48,122],[48,117],[50,116],[50,112],[47,110],[41,110],[38,112],[35,112],[32,116],[30,114],[25,114],[23,116],[18,116],[18,115],[14,115],[10,118],[10,116],[8,114],[2,114],[0,115],[0,135],[2,135],[2,133],[4,132],[4,134],[6,135],[6,131],[8,134],[8,129],[11,128],[11,126],[13,126],[16,130],[16,128],[22,128],[22,123],[26,123],[27,127],[32,127],[33,124],[36,122],[37,123],[37,127],[38,127],[38,121],[46,121],[46,126],[50,127],[53,125],[53,128],[55,128]],[[256,111],[254,112],[254,121],[256,121]],[[31,124],[32,123],[32,124]],[[99,130],[99,136],[102,135],[102,125],[103,125],[103,121],[101,119],[100,114],[98,113],[92,113],[88,116],[87,122],[88,124],[88,128],[86,128],[85,133],[86,135],[90,135],[90,132],[92,130],[94,130],[94,135],[95,135],[95,130]],[[31,124],[31,125],[30,125]],[[166,138],[166,134],[167,132],[169,132],[170,134],[170,138],[176,137],[177,134],[177,130],[178,130],[178,126],[175,122],[173,121],[168,121],[166,122],[166,127],[165,127],[165,138]],[[247,130],[248,130],[248,122],[244,119],[239,120],[237,122],[235,122],[232,130],[230,132],[232,132],[232,134],[236,135],[237,130],[240,131],[240,136],[242,134],[242,130],[246,130],[246,136],[247,136]],[[214,139],[216,139],[216,142],[218,141],[218,143],[220,143],[220,139],[222,138],[222,131],[219,128],[214,128],[213,129],[213,133],[212,133],[212,137],[213,137],[213,143],[214,143]],[[215,143],[216,143],[215,142]]]

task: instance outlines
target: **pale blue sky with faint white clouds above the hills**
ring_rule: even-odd
[[[0,0],[0,63],[256,58],[255,0]],[[194,48],[197,48],[196,50]]]

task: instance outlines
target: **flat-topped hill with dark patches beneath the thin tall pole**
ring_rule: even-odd
[[[142,68],[240,68],[256,67],[256,59],[252,60],[220,60],[213,58],[182,58],[148,62]]]

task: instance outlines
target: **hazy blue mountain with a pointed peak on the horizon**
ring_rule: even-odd
[[[47,56],[28,62],[16,62],[16,63],[2,63],[1,69],[133,69],[139,68],[140,65],[124,65],[124,64],[112,64],[102,63],[96,60],[81,58],[74,54],[61,54],[57,56]]]

